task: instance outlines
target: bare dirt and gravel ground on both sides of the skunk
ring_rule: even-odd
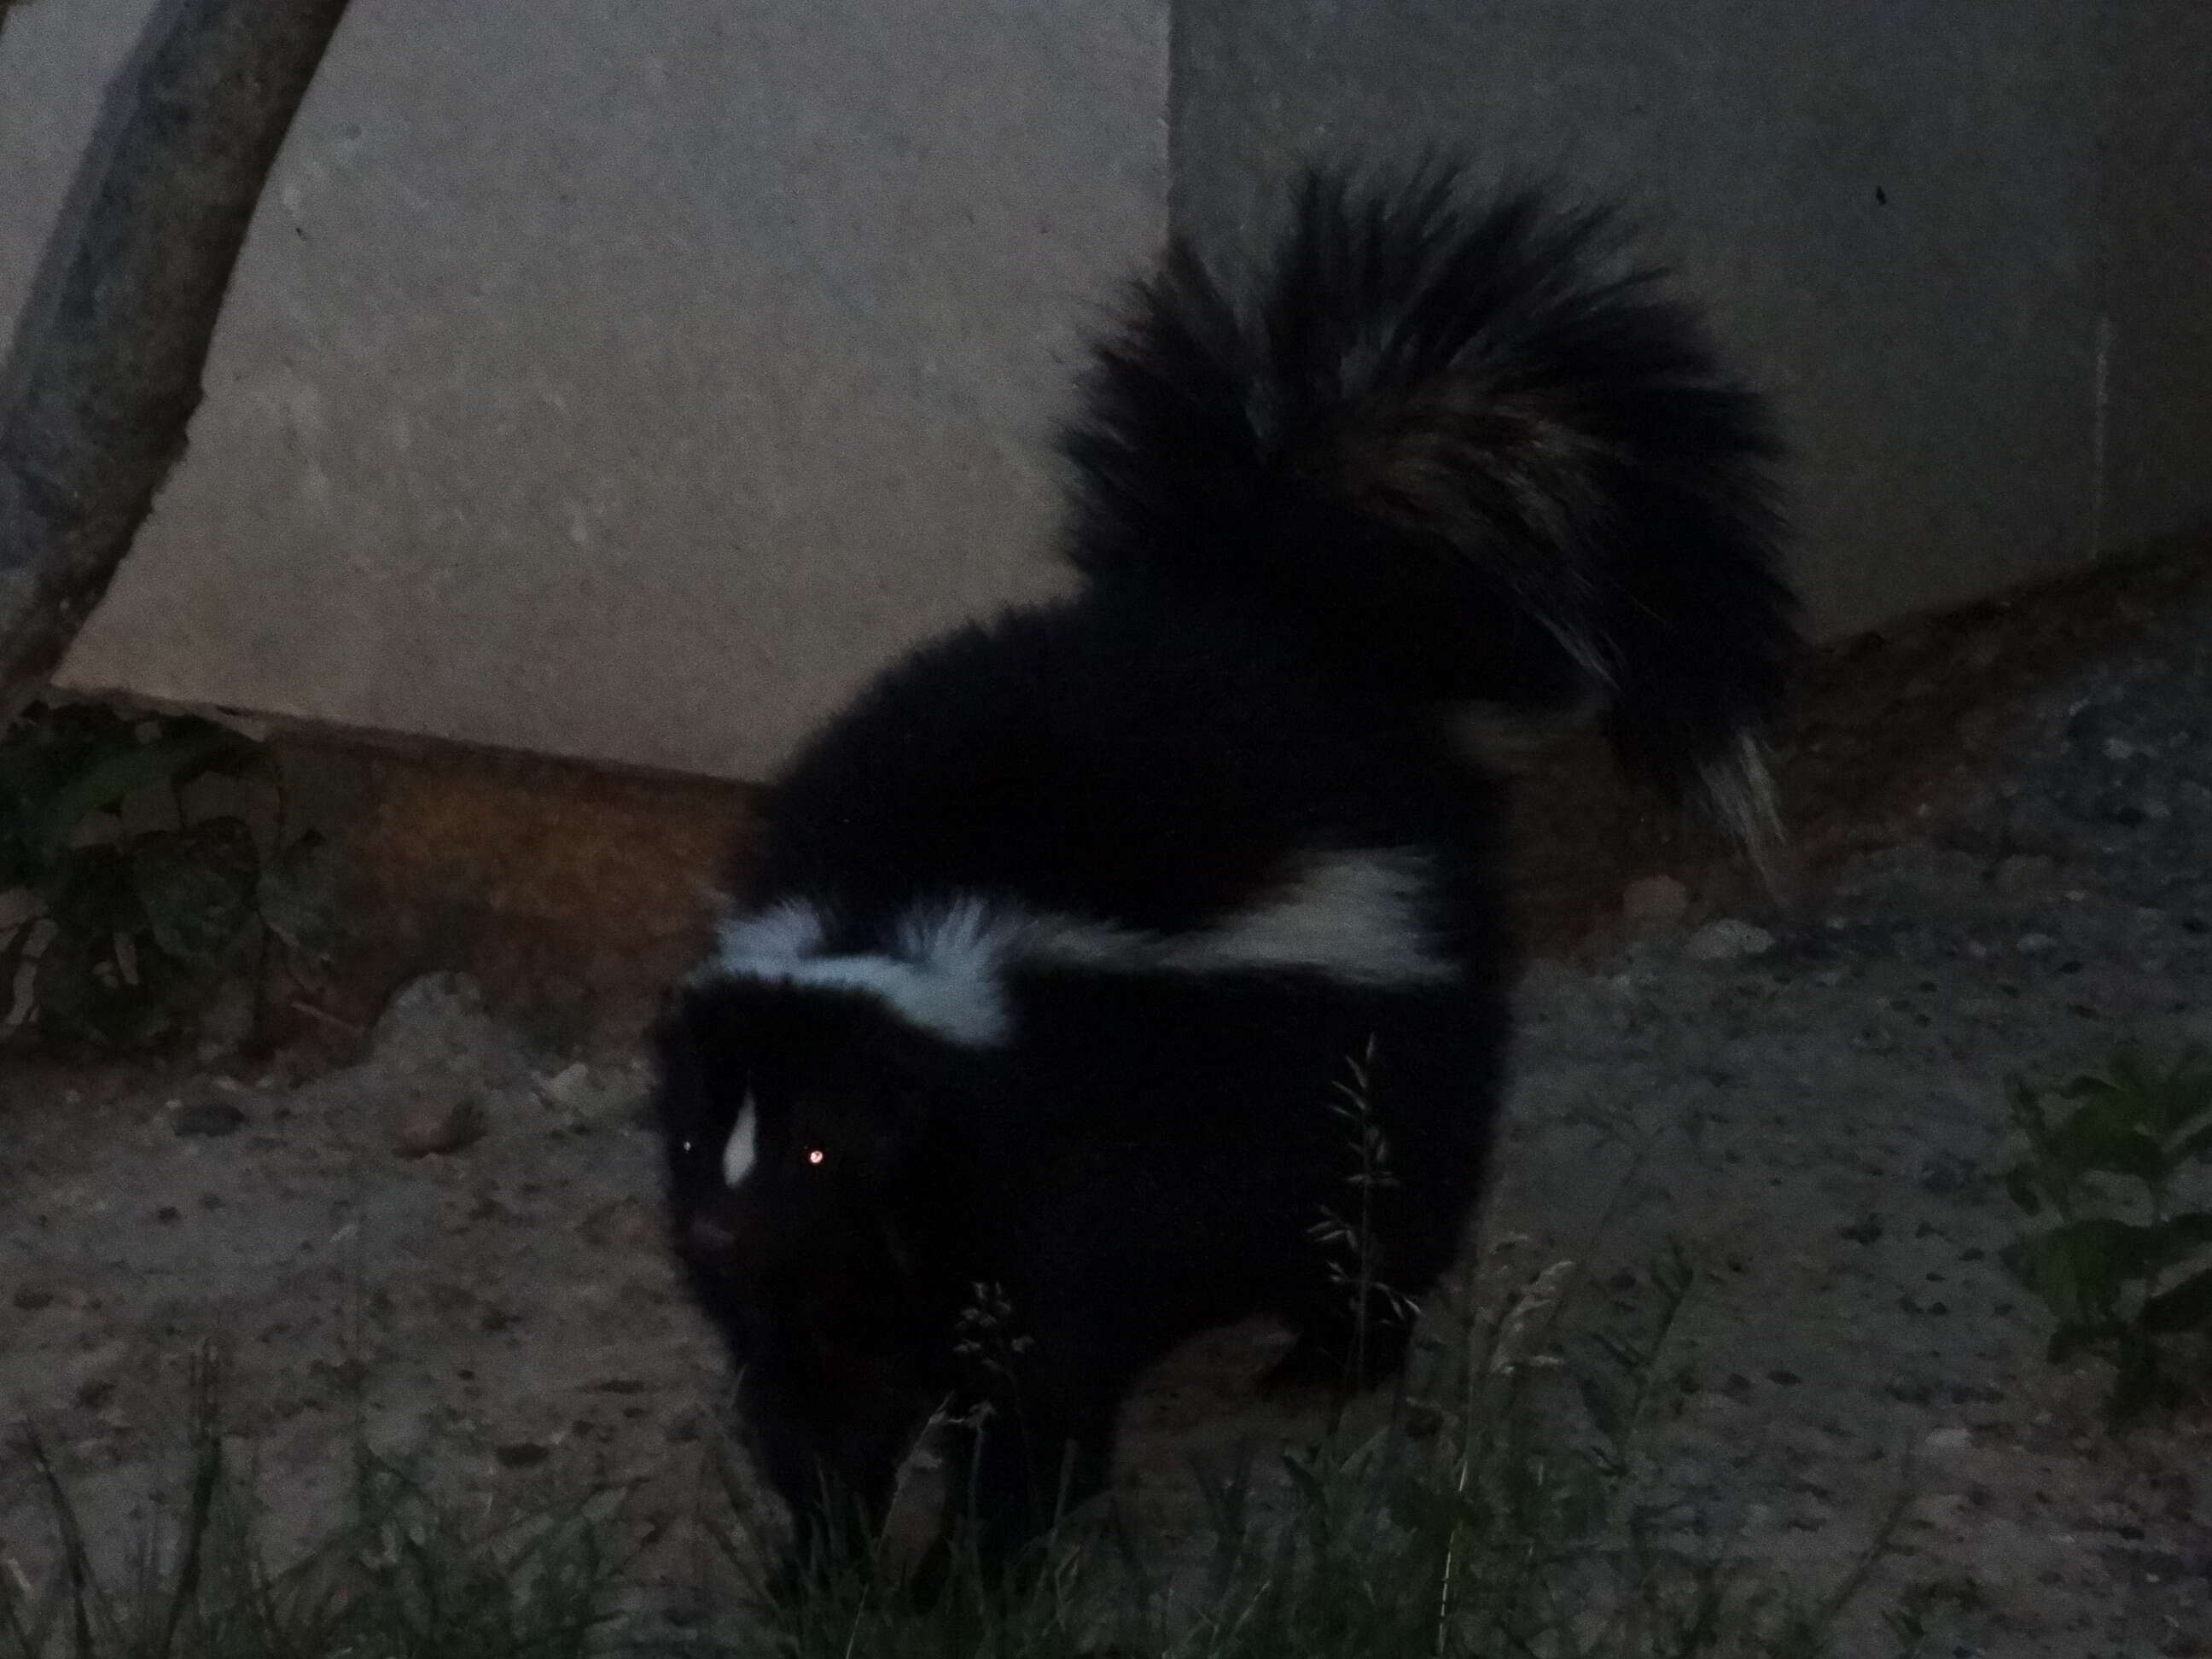
[[[1840,1652],[1944,1586],[1931,1648],[2212,1652],[2212,1420],[2110,1440],[1997,1265],[2002,1079],[2121,1042],[2212,1046],[2205,560],[1825,653],[1783,743],[1781,905],[1628,794],[1533,779],[1528,931],[1486,1261],[1584,1261],[1599,1307],[1701,1265],[1670,1376],[1686,1524],[1834,1577],[1898,1502]],[[1575,770],[1582,768],[1582,770]],[[1666,874],[1681,889],[1628,883]],[[681,1577],[721,1360],[661,1256],[635,1053],[533,1048],[422,980],[349,1064],[0,1062],[0,1416],[40,1422],[104,1531],[175,1467],[217,1340],[281,1526],[358,1422],[465,1484],[639,1482]],[[462,1139],[445,1152],[403,1146]],[[1133,1405],[1130,1484],[1279,1429],[1230,1332]],[[33,1513],[0,1458],[0,1540]]]

